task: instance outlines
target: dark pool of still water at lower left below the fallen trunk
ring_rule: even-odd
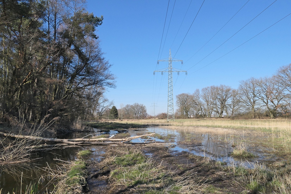
[[[45,191],[46,188],[53,189],[53,185],[49,183],[48,173],[45,170],[47,165],[56,169],[56,165],[60,161],[71,161],[76,158],[76,153],[83,150],[83,147],[67,147],[66,149],[52,149],[49,151],[40,151],[31,154],[30,163],[19,165],[1,165],[0,167],[0,188],[2,193],[18,193],[21,188],[25,190],[27,185],[38,184],[38,191]]]

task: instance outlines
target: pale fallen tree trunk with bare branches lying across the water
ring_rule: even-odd
[[[132,143],[131,140],[145,137],[145,136],[152,136],[152,134],[145,134],[140,136],[122,138],[122,139],[113,139],[111,136],[110,138],[75,138],[75,139],[58,139],[58,138],[43,138],[43,137],[36,137],[36,136],[23,136],[23,135],[15,135],[15,134],[7,134],[0,132],[0,135],[6,137],[14,137],[14,138],[22,138],[22,139],[31,139],[31,140],[39,140],[45,142],[54,142],[53,144],[43,144],[43,145],[34,145],[30,146],[29,148],[43,148],[43,147],[55,147],[55,146],[64,146],[64,145],[118,145],[118,144],[142,144],[142,145],[149,145],[149,146],[169,146],[173,147],[175,144],[168,144],[168,143],[153,143],[152,141],[145,141],[140,143]],[[86,136],[85,136],[86,137]]]

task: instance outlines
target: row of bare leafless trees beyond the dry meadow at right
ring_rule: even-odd
[[[176,95],[181,118],[267,116],[289,117],[291,114],[291,64],[280,67],[271,77],[240,81],[237,89],[230,86],[208,86],[193,94]]]

